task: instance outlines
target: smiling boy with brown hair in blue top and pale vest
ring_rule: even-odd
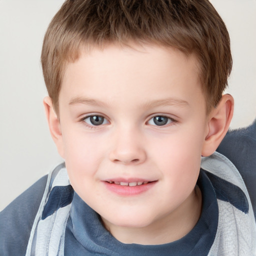
[[[41,62],[65,164],[1,212],[3,255],[255,254],[247,180],[214,152],[231,54],[207,0],[66,0]]]

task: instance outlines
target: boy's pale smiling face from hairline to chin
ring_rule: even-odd
[[[59,118],[70,182],[110,229],[189,214],[181,209],[194,199],[208,131],[193,55],[153,45],[83,52],[67,65]]]

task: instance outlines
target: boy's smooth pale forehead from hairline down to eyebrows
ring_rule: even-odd
[[[107,102],[132,96],[146,101],[161,98],[167,91],[184,101],[200,92],[193,54],[187,56],[175,48],[152,44],[109,44],[89,50],[84,47],[79,58],[67,64],[59,99],[70,102],[86,96]]]

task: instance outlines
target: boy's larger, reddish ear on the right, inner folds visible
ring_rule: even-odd
[[[234,100],[230,94],[221,97],[208,116],[207,135],[202,146],[202,156],[212,154],[225,136],[233,116]]]

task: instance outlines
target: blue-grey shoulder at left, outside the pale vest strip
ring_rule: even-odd
[[[0,212],[0,248],[3,255],[24,255],[33,220],[47,182],[41,177]]]

